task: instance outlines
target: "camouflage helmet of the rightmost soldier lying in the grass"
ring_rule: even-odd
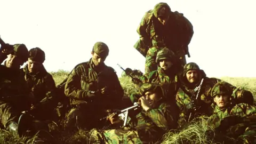
[[[227,94],[231,95],[233,93],[233,89],[230,84],[227,82],[218,82],[216,83],[211,90],[211,97],[216,97],[219,94]]]

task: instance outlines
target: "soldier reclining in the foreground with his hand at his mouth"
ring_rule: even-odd
[[[91,142],[101,143],[149,143],[157,142],[169,129],[177,127],[179,114],[165,102],[162,87],[145,83],[140,87],[141,108],[125,127],[99,131],[91,130]],[[122,124],[115,113],[109,115],[111,124]]]

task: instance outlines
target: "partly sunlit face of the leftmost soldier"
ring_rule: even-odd
[[[23,62],[16,56],[9,54],[7,55],[5,66],[8,68],[17,68],[19,69]]]

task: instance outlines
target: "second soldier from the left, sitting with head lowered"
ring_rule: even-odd
[[[44,68],[45,53],[39,47],[29,50],[28,63],[23,68],[25,80],[34,94],[33,106],[29,111],[37,119],[53,119],[57,99],[54,95],[56,88],[52,75]]]

